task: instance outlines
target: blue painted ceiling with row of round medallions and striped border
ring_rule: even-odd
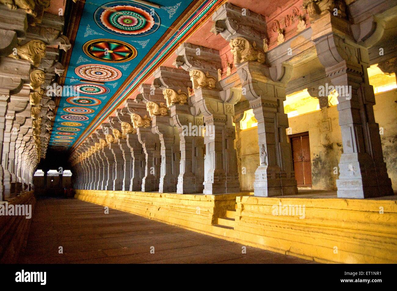
[[[80,144],[220,1],[201,1],[150,59],[145,59],[150,50],[189,5],[198,1],[151,1],[160,8],[138,2],[85,2],[54,119],[53,149],[68,150]],[[143,69],[136,72],[143,60]],[[128,84],[120,92],[126,80]]]

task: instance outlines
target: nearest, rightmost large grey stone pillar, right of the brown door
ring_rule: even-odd
[[[374,90],[369,84],[367,48],[351,35],[351,22],[343,1],[308,4],[312,41],[331,79],[328,88],[338,92],[337,110],[343,153],[339,161],[337,195],[368,198],[393,195],[383,159],[379,125],[375,122]],[[334,16],[334,8],[341,11]]]

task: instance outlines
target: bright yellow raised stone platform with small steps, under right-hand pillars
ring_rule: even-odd
[[[397,262],[396,200],[96,190],[75,197],[317,262]]]

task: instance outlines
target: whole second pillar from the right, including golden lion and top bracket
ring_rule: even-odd
[[[260,166],[255,172],[254,194],[276,196],[297,194],[291,148],[287,143],[284,114],[285,83],[292,67],[269,68],[265,63],[267,37],[263,15],[225,3],[213,14],[214,34],[220,34],[231,48],[242,95],[249,100],[258,120]],[[234,134],[234,132],[233,132]]]

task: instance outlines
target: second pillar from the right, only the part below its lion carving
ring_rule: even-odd
[[[258,121],[260,165],[255,172],[254,195],[266,197],[297,194],[286,134],[288,118],[283,107],[285,82],[292,68],[284,67],[284,73],[277,74],[283,78],[276,81],[270,77],[272,69],[275,68],[262,65],[258,58],[237,65],[242,91]]]

